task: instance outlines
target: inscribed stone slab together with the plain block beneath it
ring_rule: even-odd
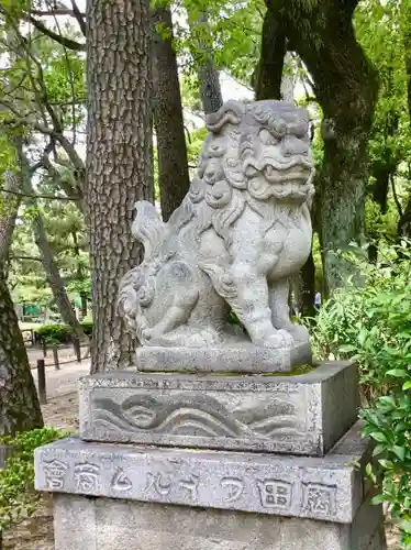
[[[325,458],[57,441],[36,451],[56,550],[385,550],[354,426]]]

